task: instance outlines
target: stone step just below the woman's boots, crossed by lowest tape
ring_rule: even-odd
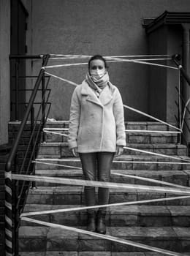
[[[79,227],[84,229],[84,227]],[[190,252],[189,227],[107,227],[107,235],[174,252]],[[19,229],[20,252],[137,252],[145,251],[82,233],[53,227],[23,226]]]

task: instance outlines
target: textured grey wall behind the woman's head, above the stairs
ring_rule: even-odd
[[[66,53],[104,56],[148,53],[142,18],[156,18],[164,10],[188,11],[189,0],[33,0],[28,11],[30,53]],[[158,52],[159,53],[159,52]],[[61,61],[51,61],[56,64]],[[33,63],[33,69],[37,66]],[[122,93],[123,103],[148,111],[148,67],[110,64],[110,78]],[[86,66],[52,69],[80,83]],[[73,87],[52,79],[50,117],[69,118]],[[126,120],[140,120],[127,110]]]

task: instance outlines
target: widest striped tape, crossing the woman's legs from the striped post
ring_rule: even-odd
[[[102,182],[102,181],[88,181],[83,179],[75,178],[56,178],[48,176],[30,176],[12,173],[12,179],[22,181],[41,181],[54,184],[66,184],[74,186],[88,186],[88,187],[103,187],[112,189],[130,189],[130,190],[145,190],[147,192],[161,192],[161,193],[177,193],[177,194],[190,194],[190,188],[176,188],[176,187],[156,187],[156,186],[145,186],[137,184],[124,184],[115,182]]]

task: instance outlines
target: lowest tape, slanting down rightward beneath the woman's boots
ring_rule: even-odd
[[[148,246],[146,244],[140,244],[140,243],[137,243],[137,242],[134,242],[134,241],[125,240],[123,238],[117,238],[115,236],[102,235],[102,234],[91,232],[91,231],[88,231],[88,230],[83,230],[83,229],[80,229],[80,228],[77,228],[77,227],[68,227],[68,226],[65,226],[65,225],[59,225],[59,224],[50,223],[50,222],[43,222],[41,220],[30,219],[30,218],[27,218],[27,217],[21,217],[21,219],[26,221],[26,222],[33,222],[33,223],[36,223],[36,224],[39,224],[39,225],[45,225],[47,227],[60,228],[60,229],[63,229],[63,230],[69,230],[69,231],[73,231],[73,232],[77,232],[77,233],[83,233],[83,234],[86,234],[86,235],[89,235],[89,236],[94,236],[94,237],[97,237],[97,238],[103,238],[103,239],[106,239],[108,241],[114,241],[114,242],[117,242],[119,244],[126,244],[126,245],[130,245],[130,246],[135,246],[135,247],[141,248],[141,249],[147,249],[147,250],[152,251],[152,252],[159,252],[159,253],[162,253],[164,255],[188,256],[188,255],[181,254],[181,253],[178,253],[178,252],[172,252],[172,251],[169,251],[169,250],[166,250],[166,249],[161,249],[161,248],[157,248],[157,247],[153,247],[153,246]]]

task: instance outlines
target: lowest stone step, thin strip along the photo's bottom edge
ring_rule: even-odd
[[[185,252],[188,255],[189,252]],[[158,252],[19,252],[20,256],[163,256]]]

